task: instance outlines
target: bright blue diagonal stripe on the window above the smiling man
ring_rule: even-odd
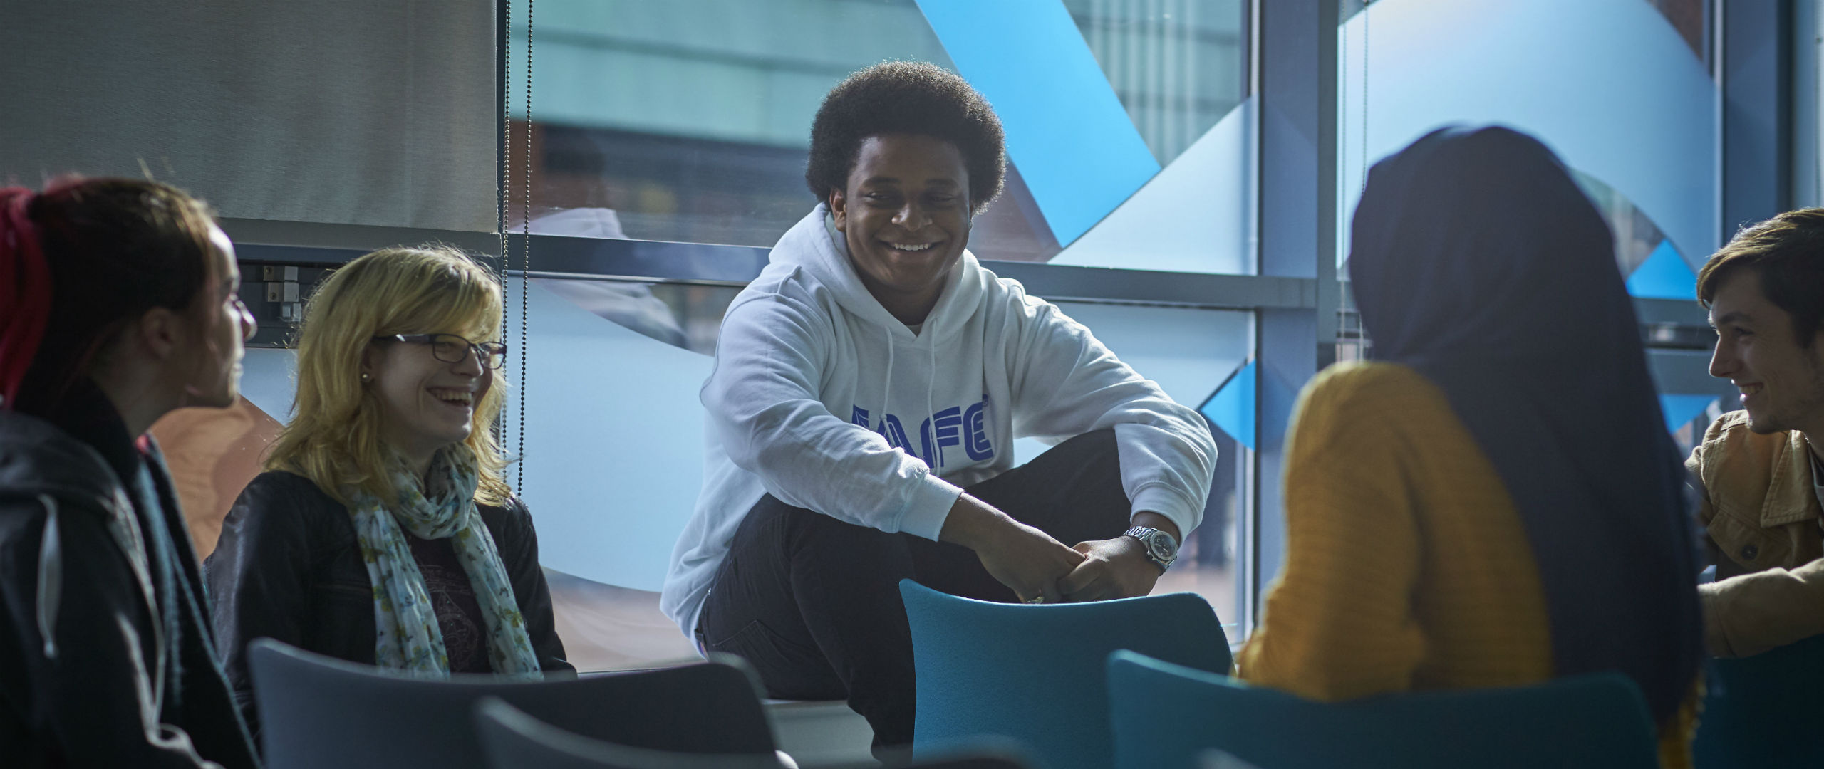
[[[1060,0],[919,0],[943,49],[1001,118],[1007,155],[1069,246],[1158,160]]]

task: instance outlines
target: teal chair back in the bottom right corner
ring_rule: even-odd
[[[1713,660],[1705,691],[1698,769],[1824,767],[1824,636]]]

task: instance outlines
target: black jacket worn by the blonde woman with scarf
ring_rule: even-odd
[[[538,569],[533,516],[518,497],[505,507],[478,508],[513,581],[538,665],[547,674],[575,672],[564,661],[551,589]],[[374,583],[361,561],[354,519],[308,477],[277,470],[254,477],[228,510],[204,569],[228,682],[255,734],[248,641],[275,638],[319,654],[374,663]]]

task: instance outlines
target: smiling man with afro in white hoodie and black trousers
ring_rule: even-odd
[[[722,321],[708,459],[664,609],[777,698],[912,742],[899,579],[989,601],[1144,596],[1197,527],[1204,419],[969,253],[1005,173],[963,78],[886,62],[812,126],[817,206]],[[1014,467],[1016,437],[1054,448]],[[1045,643],[1045,640],[1034,640]]]

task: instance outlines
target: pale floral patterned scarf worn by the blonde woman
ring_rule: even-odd
[[[467,446],[440,450],[430,459],[423,488],[392,456],[392,488],[399,501],[387,505],[365,492],[354,494],[348,514],[361,541],[361,559],[374,583],[374,625],[378,631],[374,663],[421,676],[447,676],[449,652],[443,629],[430,605],[418,559],[401,527],[425,539],[449,538],[456,561],[469,574],[476,603],[487,623],[487,656],[498,674],[536,676],[538,654],[525,632],[525,618],[513,596],[507,569],[500,563],[494,538],[482,525],[474,507],[476,463]]]

